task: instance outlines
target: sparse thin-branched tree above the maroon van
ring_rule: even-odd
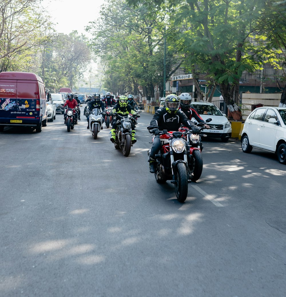
[[[41,31],[51,28],[50,21],[42,15],[36,0],[1,0],[0,2],[0,70],[7,71],[17,57],[27,58],[37,47],[47,42]],[[23,62],[21,60],[21,66]]]

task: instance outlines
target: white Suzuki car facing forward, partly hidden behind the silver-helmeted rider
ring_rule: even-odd
[[[203,134],[208,137],[221,138],[223,142],[227,142],[231,137],[232,130],[226,115],[210,102],[192,102],[192,106],[197,110],[204,121],[206,121],[206,119],[212,119],[208,123],[211,128],[203,129]],[[196,123],[196,120],[193,118],[192,121]]]

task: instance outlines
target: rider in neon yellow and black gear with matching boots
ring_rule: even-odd
[[[131,108],[131,106],[128,104],[128,98],[126,96],[119,96],[118,103],[114,106],[114,109],[112,112],[116,112],[121,116],[128,116],[129,113],[136,114],[136,112]],[[116,128],[116,121],[120,119],[116,116],[116,119],[112,122],[112,129],[111,132],[111,142],[115,142],[115,128]],[[135,138],[135,128],[134,123],[132,122],[132,136],[131,136],[132,144],[135,143],[137,140]]]

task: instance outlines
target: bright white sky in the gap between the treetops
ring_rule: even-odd
[[[73,30],[91,36],[84,31],[90,21],[99,16],[100,6],[105,0],[42,0],[42,6],[50,14],[58,33],[69,34]]]

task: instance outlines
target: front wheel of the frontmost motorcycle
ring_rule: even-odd
[[[188,175],[186,165],[184,163],[178,163],[174,173],[177,200],[182,203],[186,200],[188,195]]]

